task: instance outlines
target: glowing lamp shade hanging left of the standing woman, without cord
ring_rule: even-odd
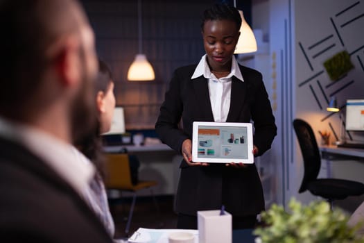
[[[154,79],[154,70],[146,59],[146,55],[137,54],[129,67],[128,81],[152,81]]]

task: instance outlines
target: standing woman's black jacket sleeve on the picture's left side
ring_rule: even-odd
[[[177,71],[173,73],[169,90],[166,92],[164,102],[159,110],[155,131],[164,144],[181,153],[182,143],[189,136],[178,128],[183,111],[181,99],[181,82],[183,78],[178,76],[177,73]]]

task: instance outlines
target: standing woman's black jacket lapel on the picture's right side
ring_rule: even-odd
[[[230,97],[230,108],[227,114],[227,122],[238,121],[246,96],[246,81],[242,82],[235,76],[232,77],[232,92]]]

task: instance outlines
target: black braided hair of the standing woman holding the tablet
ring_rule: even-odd
[[[205,22],[209,20],[231,20],[236,24],[236,28],[240,29],[241,26],[241,17],[239,11],[226,3],[223,4],[215,4],[210,8],[207,8],[202,16],[201,29],[203,31],[203,26]]]

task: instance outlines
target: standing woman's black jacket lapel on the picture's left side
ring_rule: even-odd
[[[200,108],[205,121],[214,121],[214,115],[211,110],[211,101],[209,95],[209,86],[207,79],[200,76],[192,81],[196,96],[196,107]]]

